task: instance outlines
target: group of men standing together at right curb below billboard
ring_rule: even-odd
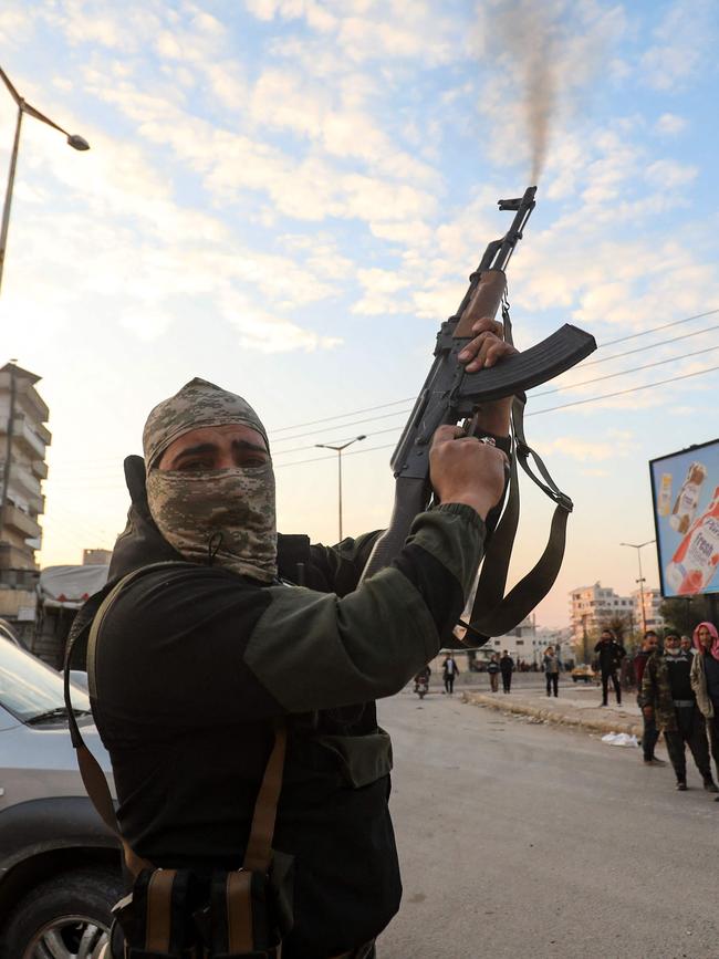
[[[635,658],[637,703],[642,709],[643,758],[646,765],[664,765],[655,753],[659,733],[669,753],[677,789],[687,786],[686,747],[707,792],[718,793],[710,755],[719,776],[719,633],[704,622],[691,638],[669,630],[664,646],[654,630],[644,635]],[[716,796],[719,802],[719,795]]]

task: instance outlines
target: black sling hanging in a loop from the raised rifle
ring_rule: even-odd
[[[504,336],[512,343],[512,323],[508,303],[502,303]],[[546,596],[562,566],[566,543],[566,521],[572,501],[556,486],[541,457],[527,444],[524,436],[524,394],[512,402],[513,442],[510,455],[509,491],[507,503],[493,531],[482,563],[475,593],[471,616],[467,625],[468,645],[482,645],[490,636],[501,636],[514,628]],[[534,460],[544,482],[529,466]],[[544,552],[530,572],[504,596],[509,563],[519,524],[520,497],[517,463],[530,479],[556,503]]]

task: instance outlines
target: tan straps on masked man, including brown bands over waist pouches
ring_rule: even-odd
[[[96,699],[97,689],[95,678],[97,638],[103,619],[118,593],[131,582],[138,578],[149,570],[157,570],[160,566],[177,565],[185,564],[168,561],[142,566],[124,576],[105,596],[93,619],[87,640],[87,685],[93,699]],[[80,774],[87,791],[87,795],[90,796],[90,800],[100,817],[103,820],[107,828],[117,836],[122,845],[125,865],[133,878],[136,879],[143,869],[149,869],[153,873],[147,895],[148,907],[152,909],[155,919],[153,924],[148,924],[146,948],[150,951],[154,949],[154,951],[163,952],[167,950],[169,944],[170,901],[176,871],[156,869],[152,863],[142,858],[142,856],[138,856],[134,852],[119,830],[107,779],[102,767],[86,747],[73,711],[70,695],[70,661],[73,645],[74,639],[67,645],[65,650],[64,690],[65,707],[70,720],[70,733],[77,755]],[[278,718],[274,728],[274,744],[270,752],[254,804],[252,826],[244,853],[244,862],[240,871],[229,873],[227,878],[228,938],[229,946],[231,947],[230,952],[250,952],[253,949],[251,878],[252,872],[259,872],[267,875],[270,868],[272,857],[272,836],[274,834],[277,807],[282,789],[285,750],[286,726],[284,719]]]

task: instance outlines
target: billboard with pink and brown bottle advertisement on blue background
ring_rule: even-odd
[[[649,462],[661,595],[719,593],[719,439]]]

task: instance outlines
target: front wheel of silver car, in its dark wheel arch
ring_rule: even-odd
[[[111,909],[123,896],[118,872],[74,869],[20,901],[3,936],[3,959],[98,959]]]

